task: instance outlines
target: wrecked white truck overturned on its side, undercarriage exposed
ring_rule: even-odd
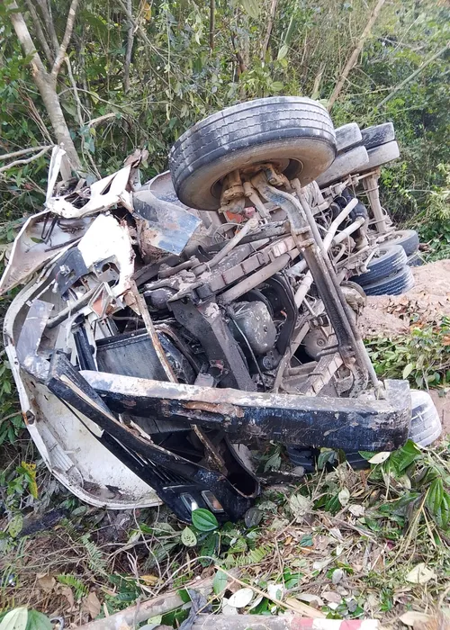
[[[391,123],[241,103],[147,184],[139,151],[94,182],[60,181],[62,153],[0,289],[25,284],[6,351],[31,437],[80,499],[236,519],[259,492],[246,446],[275,440],[310,470],[320,447],[357,464],[439,435],[427,394],[379,381],[358,331],[365,295],[407,291],[418,263],[380,202]]]

